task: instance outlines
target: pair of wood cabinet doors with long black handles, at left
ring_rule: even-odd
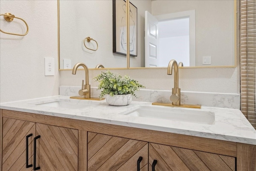
[[[78,130],[3,117],[2,151],[3,171],[31,171],[34,167],[40,167],[42,171],[77,171]],[[26,151],[28,165],[31,165],[28,168]]]

